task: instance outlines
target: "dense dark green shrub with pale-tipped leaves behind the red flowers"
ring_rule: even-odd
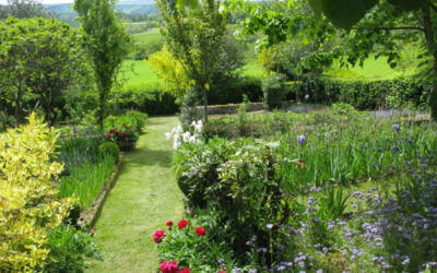
[[[290,214],[288,205],[281,201],[273,150],[273,145],[263,142],[213,139],[208,144],[184,145],[177,151],[178,185],[189,206],[208,206],[236,253],[247,251],[240,241],[253,235],[260,237],[259,247],[271,253],[277,250],[274,242],[281,234],[269,235],[267,225],[285,224]]]

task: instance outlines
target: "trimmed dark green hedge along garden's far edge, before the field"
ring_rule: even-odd
[[[255,78],[240,78],[216,84],[210,90],[209,104],[239,104],[243,102],[244,94],[252,103],[262,102],[265,94],[263,94],[261,86],[261,80]],[[378,108],[425,109],[428,106],[430,91],[429,83],[416,82],[412,78],[371,82],[312,78],[282,86],[284,86],[283,95],[286,100],[328,105],[346,103],[359,110]],[[139,110],[149,115],[173,115],[179,111],[176,98],[169,94],[162,94],[157,84],[125,86],[119,94],[118,107]]]

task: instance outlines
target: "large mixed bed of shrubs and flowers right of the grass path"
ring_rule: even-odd
[[[209,139],[179,145],[177,181],[194,218],[154,234],[162,265],[194,272],[435,266],[435,128],[375,119],[346,104],[333,108],[212,119]],[[259,127],[240,130],[253,122]],[[216,138],[216,124],[238,133]],[[377,187],[354,190],[369,180]]]

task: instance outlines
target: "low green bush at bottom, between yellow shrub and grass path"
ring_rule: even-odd
[[[92,236],[70,225],[50,232],[46,247],[50,253],[43,272],[84,272],[85,258],[102,259]]]

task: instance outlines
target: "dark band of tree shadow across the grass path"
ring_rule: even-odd
[[[146,147],[137,149],[130,152],[128,157],[128,165],[130,167],[140,166],[155,166],[172,167],[172,151],[151,150]]]

